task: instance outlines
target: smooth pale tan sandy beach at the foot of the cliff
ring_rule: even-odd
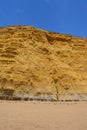
[[[0,130],[87,130],[87,103],[0,101]]]

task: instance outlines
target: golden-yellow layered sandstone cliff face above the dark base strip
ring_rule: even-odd
[[[28,26],[0,28],[3,88],[29,96],[86,98],[87,39]]]

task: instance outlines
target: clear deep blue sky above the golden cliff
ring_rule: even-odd
[[[87,0],[0,0],[0,26],[7,25],[87,37]]]

